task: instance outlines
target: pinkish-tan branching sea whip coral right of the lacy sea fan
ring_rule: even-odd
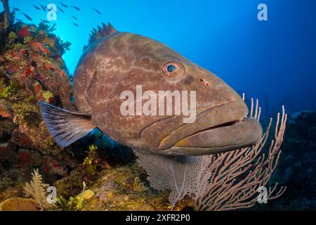
[[[253,100],[251,99],[252,105]],[[253,112],[251,107],[251,115]],[[242,148],[228,153],[215,155],[209,167],[211,179],[209,188],[197,198],[198,210],[237,210],[254,206],[258,201],[258,188],[265,187],[277,167],[279,149],[283,142],[283,135],[287,123],[287,114],[282,107],[282,117],[277,115],[275,139],[271,141],[268,157],[262,153],[268,140],[272,118],[261,141],[256,146]],[[261,109],[258,112],[258,101],[254,117],[260,119]],[[261,154],[262,153],[262,154]],[[243,176],[241,179],[240,176]],[[268,188],[267,200],[279,198],[286,187],[277,188],[278,184]]]

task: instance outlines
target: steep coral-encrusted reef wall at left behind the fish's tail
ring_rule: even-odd
[[[0,201],[22,196],[22,186],[39,168],[47,182],[65,176],[79,160],[61,150],[49,135],[38,101],[72,108],[71,84],[62,53],[63,42],[51,28],[13,23],[10,14],[1,32],[0,53]],[[0,25],[4,24],[4,13]],[[81,147],[79,147],[81,148]],[[14,195],[7,196],[12,187]]]

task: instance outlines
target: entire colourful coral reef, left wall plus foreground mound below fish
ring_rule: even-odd
[[[22,197],[38,168],[44,182],[57,188],[55,210],[192,210],[187,193],[171,205],[168,191],[152,189],[131,149],[100,131],[67,148],[56,145],[37,102],[74,106],[61,58],[70,43],[53,30],[44,23],[8,28],[0,55],[0,202]],[[38,201],[37,207],[44,209]]]

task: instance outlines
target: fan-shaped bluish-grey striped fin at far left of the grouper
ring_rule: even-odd
[[[49,133],[60,146],[69,146],[96,128],[91,115],[58,108],[44,101],[39,102],[39,108]]]

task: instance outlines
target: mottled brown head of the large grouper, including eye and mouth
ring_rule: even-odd
[[[131,90],[136,96],[133,107],[142,110],[120,115],[117,124],[124,125],[119,129],[133,134],[123,143],[158,154],[206,155],[252,146],[261,139],[261,124],[247,118],[246,104],[223,79],[159,41],[129,33],[121,42],[133,65],[117,89]]]

